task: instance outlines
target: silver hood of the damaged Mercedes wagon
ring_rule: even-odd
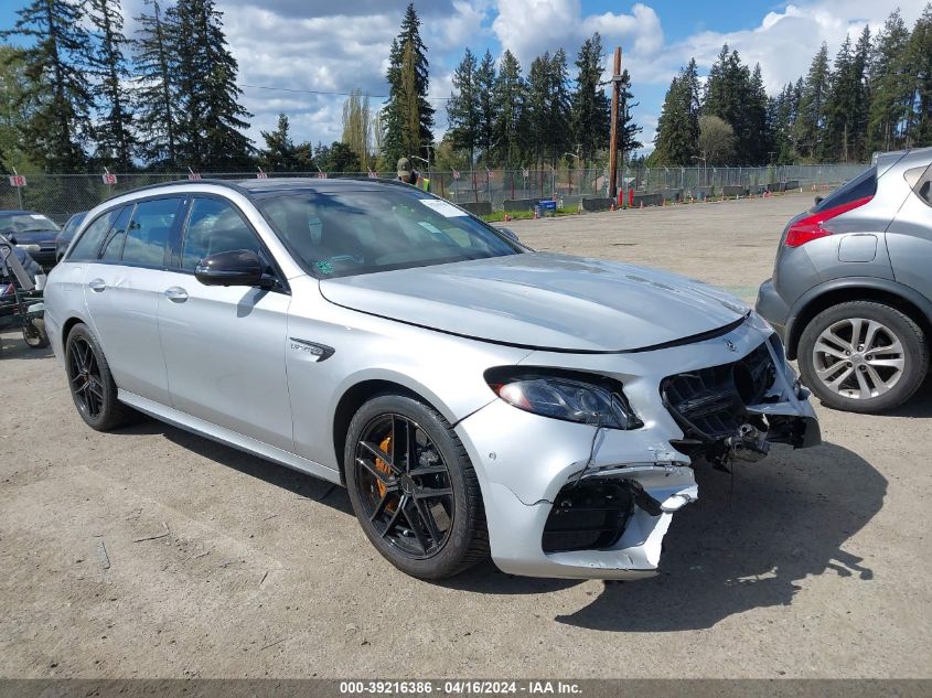
[[[713,332],[749,309],[673,273],[531,253],[320,281],[353,310],[491,342],[621,352]]]

